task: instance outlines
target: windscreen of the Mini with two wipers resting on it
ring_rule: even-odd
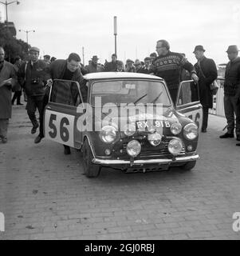
[[[97,98],[97,100],[96,100]],[[101,104],[120,105],[124,103],[156,103],[170,106],[163,82],[146,80],[108,80],[92,83],[90,102],[92,106]]]

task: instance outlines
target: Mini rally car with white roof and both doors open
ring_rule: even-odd
[[[45,138],[83,154],[87,177],[102,167],[124,172],[191,170],[199,158],[199,88],[179,84],[172,102],[167,84],[149,74],[86,74],[83,102],[77,82],[54,80],[45,108]]]

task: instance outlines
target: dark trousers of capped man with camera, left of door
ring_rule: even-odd
[[[36,110],[39,112],[39,117],[42,116],[42,99],[43,96],[28,96],[27,97],[27,104],[26,104],[26,110],[27,114],[29,115],[30,121],[33,124],[33,127],[38,126],[37,118],[36,118]],[[43,128],[42,122],[40,122],[40,130]]]

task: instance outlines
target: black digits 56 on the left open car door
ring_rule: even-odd
[[[49,136],[51,138],[57,137],[57,127],[53,123],[54,121],[55,122],[57,121],[57,114],[51,114],[49,118],[49,128],[52,129],[51,131],[49,131]],[[60,137],[63,142],[68,142],[69,130],[65,126],[69,126],[69,119],[61,118],[60,127],[59,127]]]

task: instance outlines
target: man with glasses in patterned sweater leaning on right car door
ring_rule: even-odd
[[[163,78],[167,82],[171,98],[175,102],[178,94],[179,82],[182,68],[191,74],[191,78],[198,82],[195,68],[183,54],[173,53],[170,51],[170,45],[166,40],[159,40],[156,44],[156,51],[159,54],[151,65],[151,73]]]

